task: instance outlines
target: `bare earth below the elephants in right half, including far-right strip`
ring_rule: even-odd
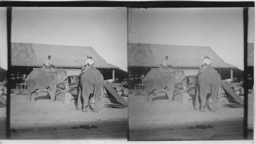
[[[153,104],[144,95],[129,96],[129,140],[243,139],[244,108],[223,107],[218,99],[217,112],[200,112],[192,103],[169,104],[164,95],[153,98]],[[248,101],[248,129],[253,129],[253,95]],[[199,129],[198,125],[214,127]],[[253,133],[248,133],[248,139],[252,138]]]

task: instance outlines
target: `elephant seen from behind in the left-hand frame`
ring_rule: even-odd
[[[79,87],[77,109],[79,110],[81,108],[83,112],[88,112],[88,106],[94,98],[95,105],[93,111],[99,112],[99,97],[104,83],[103,75],[99,71],[91,68],[80,76],[75,76],[72,83],[74,83],[76,87]],[[89,102],[90,95],[92,95],[92,98]]]

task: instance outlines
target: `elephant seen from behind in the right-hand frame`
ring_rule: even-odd
[[[212,108],[210,108],[210,111],[216,112],[217,96],[219,89],[221,87],[220,74],[217,71],[212,70],[210,68],[206,69],[197,76],[196,87],[196,102],[199,102],[200,111],[204,112],[205,107],[209,107],[209,97],[207,96],[210,95],[210,97],[212,98]],[[193,105],[194,108],[196,109],[196,104],[194,103]]]

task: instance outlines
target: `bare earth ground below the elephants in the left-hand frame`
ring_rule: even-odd
[[[75,103],[25,99],[26,95],[11,96],[10,127],[17,130],[11,132],[12,139],[127,139],[127,107],[108,108],[100,100],[99,112],[82,112]],[[82,129],[81,125],[97,128]]]

